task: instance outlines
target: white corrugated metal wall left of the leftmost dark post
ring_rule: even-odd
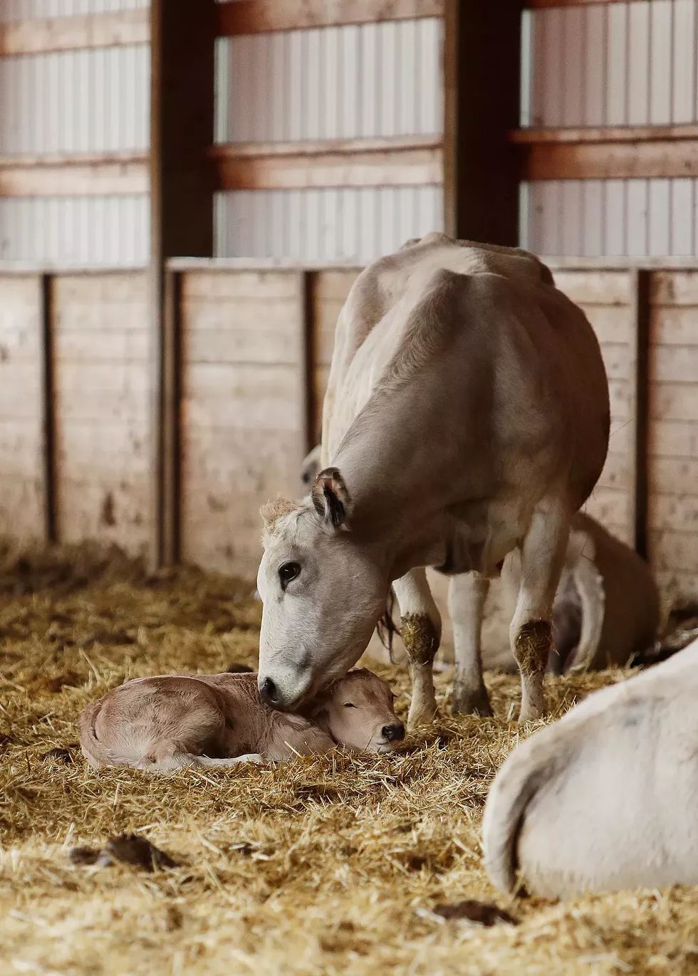
[[[144,0],[6,0],[3,21],[145,7]],[[0,59],[0,154],[147,149],[148,45]],[[146,194],[0,199],[0,258],[63,266],[148,257]]]

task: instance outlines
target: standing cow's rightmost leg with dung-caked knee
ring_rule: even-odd
[[[521,672],[520,722],[546,712],[544,675],[553,647],[553,602],[569,538],[569,515],[557,500],[546,500],[533,513],[521,546],[521,587],[510,641]]]

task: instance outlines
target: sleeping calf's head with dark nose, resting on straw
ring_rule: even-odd
[[[320,696],[314,716],[341,746],[363,752],[391,752],[405,737],[394,712],[390,685],[377,674],[359,668],[335,681]]]

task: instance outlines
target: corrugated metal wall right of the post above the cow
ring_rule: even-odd
[[[533,11],[524,19],[523,126],[698,120],[695,0]],[[521,242],[548,255],[698,254],[693,179],[521,187]]]

